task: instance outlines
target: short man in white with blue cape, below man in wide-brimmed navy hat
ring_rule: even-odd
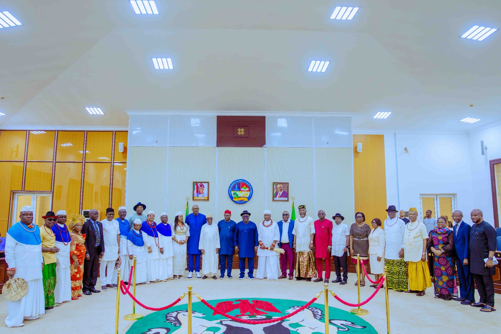
[[[132,230],[127,235],[127,251],[129,253],[129,261],[132,263],[134,256],[136,257],[136,283],[146,283],[146,248],[144,246],[145,233],[141,231],[143,222],[138,218],[133,222]],[[130,272],[126,272],[127,280]]]

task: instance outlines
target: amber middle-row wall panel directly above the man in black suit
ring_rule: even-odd
[[[100,210],[100,219],[105,217],[110,203],[110,168],[111,163],[85,164],[82,210]]]

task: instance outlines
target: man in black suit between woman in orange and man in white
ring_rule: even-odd
[[[84,223],[82,234],[85,233],[85,254],[84,278],[82,292],[85,295],[91,295],[96,290],[97,274],[99,272],[99,259],[104,255],[103,224],[98,222],[99,214],[96,209],[89,211],[89,219]]]

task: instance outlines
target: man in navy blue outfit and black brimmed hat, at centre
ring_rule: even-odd
[[[254,279],[254,255],[258,251],[259,244],[258,227],[249,221],[250,213],[247,210],[244,210],[240,217],[242,221],[236,224],[233,243],[238,253],[238,268],[240,268],[238,279],[243,279],[245,274],[245,259],[247,259],[247,276]]]

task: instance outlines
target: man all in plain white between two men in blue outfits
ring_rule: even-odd
[[[198,249],[202,253],[202,279],[206,279],[212,274],[212,279],[217,279],[217,260],[219,248],[221,244],[219,241],[219,228],[217,225],[212,224],[212,215],[205,216],[207,224],[202,225],[200,230],[200,241],[198,242]]]

